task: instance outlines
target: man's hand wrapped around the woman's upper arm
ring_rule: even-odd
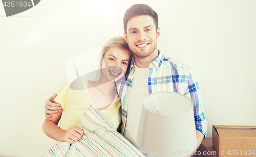
[[[46,100],[46,105],[45,105],[46,118],[51,118],[52,114],[56,114],[58,113],[58,110],[61,110],[61,104],[53,101],[56,96],[57,94],[53,94],[48,100]]]

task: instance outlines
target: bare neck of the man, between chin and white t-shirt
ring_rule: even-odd
[[[150,64],[158,57],[158,50],[157,48],[154,50],[154,52],[147,57],[141,58],[138,56],[134,56],[134,60],[136,63],[136,66],[139,68],[148,68],[150,67]]]

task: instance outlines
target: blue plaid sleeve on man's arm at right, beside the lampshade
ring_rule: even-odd
[[[185,95],[191,98],[194,107],[194,118],[196,129],[204,134],[206,137],[207,132],[207,121],[204,116],[203,103],[201,91],[199,90],[198,83],[196,81],[195,73],[190,69],[188,77],[188,86]]]

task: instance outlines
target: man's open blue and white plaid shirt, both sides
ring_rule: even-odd
[[[150,75],[147,80],[148,94],[171,91],[186,95],[193,102],[196,129],[206,137],[207,121],[205,120],[201,92],[194,72],[186,65],[165,57],[158,50],[158,57],[150,64]],[[122,107],[121,134],[125,130],[127,108],[134,78],[134,58],[130,73],[125,75],[118,85],[118,93]]]

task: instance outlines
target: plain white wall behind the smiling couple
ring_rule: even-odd
[[[196,72],[207,137],[212,124],[256,125],[256,1],[44,0],[11,17],[0,5],[0,156],[40,156],[55,143],[41,125],[66,62],[122,36],[135,3],[158,13],[158,48]]]

